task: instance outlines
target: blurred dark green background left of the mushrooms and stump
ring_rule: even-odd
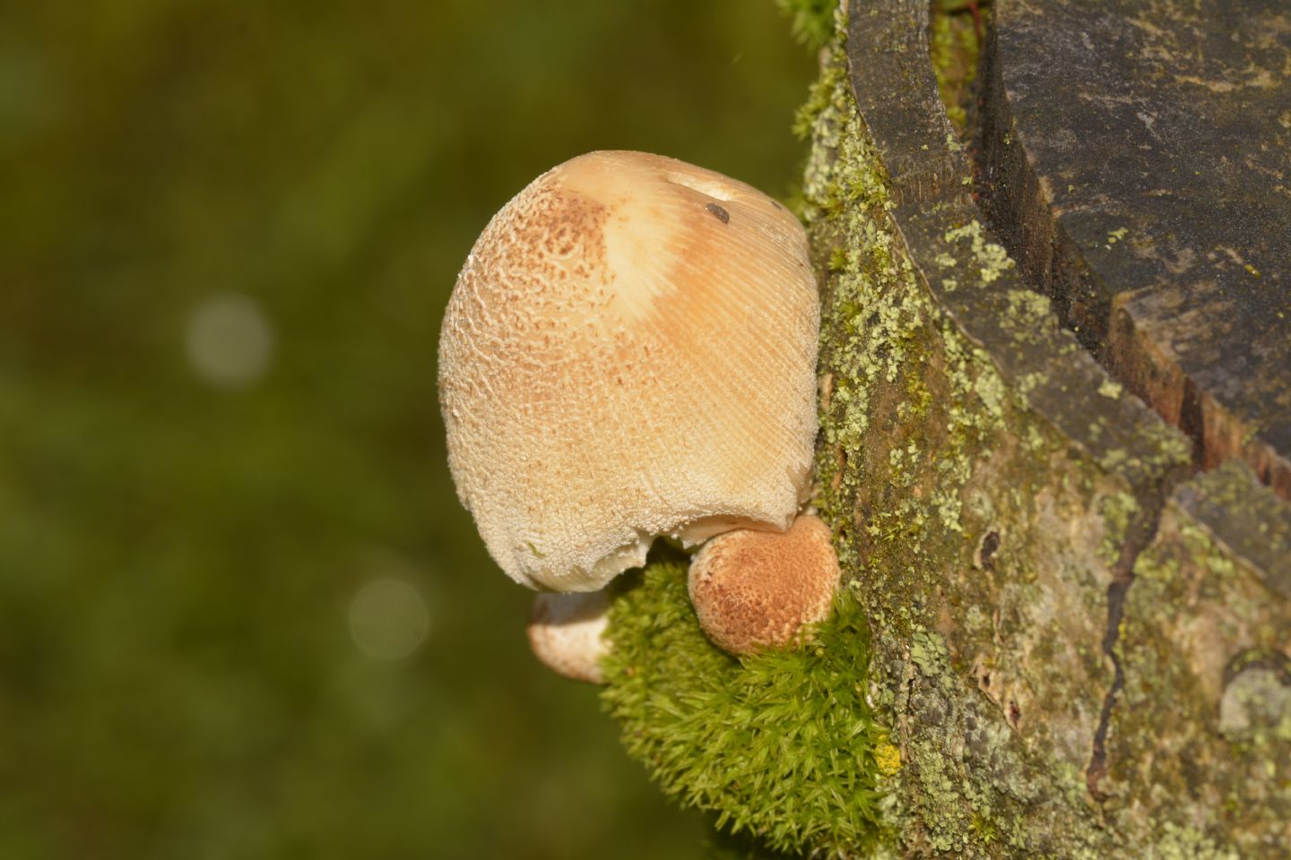
[[[0,857],[688,857],[460,508],[489,215],[793,186],[772,0],[0,4]]]

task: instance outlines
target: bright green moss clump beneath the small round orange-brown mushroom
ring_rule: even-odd
[[[807,646],[744,660],[700,629],[684,560],[647,566],[609,619],[603,701],[666,794],[773,851],[879,839],[892,749],[866,703],[869,632],[851,593]]]

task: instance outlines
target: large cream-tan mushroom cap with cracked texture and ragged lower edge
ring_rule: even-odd
[[[593,152],[485,227],[439,342],[457,493],[519,583],[594,591],[657,535],[784,530],[820,307],[798,220],[674,159]]]

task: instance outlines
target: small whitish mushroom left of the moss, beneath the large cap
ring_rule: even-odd
[[[609,652],[603,638],[608,624],[609,596],[604,591],[538,592],[529,615],[529,647],[556,674],[600,683],[600,658]]]

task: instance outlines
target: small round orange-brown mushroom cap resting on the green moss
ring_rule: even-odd
[[[709,638],[746,655],[789,645],[828,618],[840,576],[829,526],[802,516],[784,534],[718,535],[691,560],[688,588]]]

